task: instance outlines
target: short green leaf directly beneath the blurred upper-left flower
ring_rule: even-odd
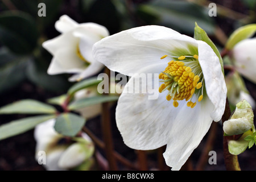
[[[97,85],[101,81],[102,80],[98,80],[97,77],[92,77],[92,78],[88,78],[86,80],[77,82],[76,84],[71,86],[71,88],[69,88],[68,94],[69,96],[73,96],[73,94],[75,94],[77,91],[88,88],[89,86]]]

